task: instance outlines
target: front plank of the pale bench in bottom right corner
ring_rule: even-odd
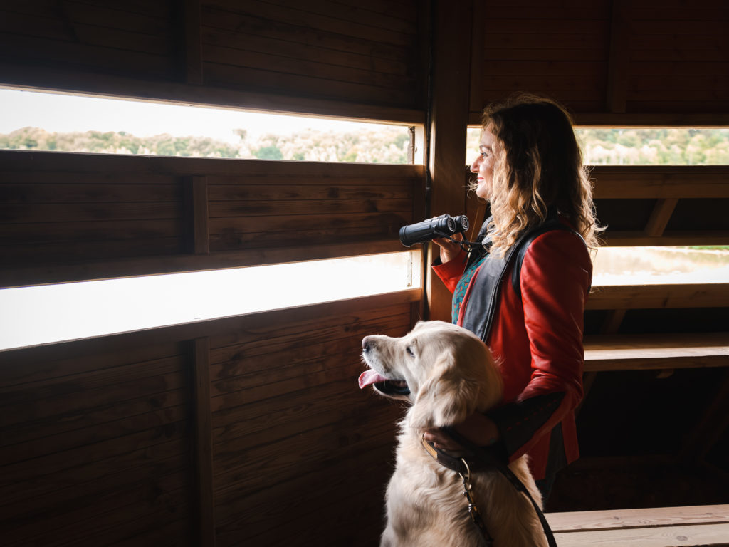
[[[729,524],[693,524],[668,528],[631,528],[597,532],[555,534],[560,547],[641,547],[729,546]]]

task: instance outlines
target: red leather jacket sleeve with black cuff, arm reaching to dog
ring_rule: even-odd
[[[513,403],[489,413],[510,461],[582,400],[582,333],[592,279],[588,249],[574,233],[547,232],[527,250],[520,277],[531,377]]]

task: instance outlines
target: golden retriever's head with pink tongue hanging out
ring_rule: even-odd
[[[410,400],[408,425],[416,429],[457,424],[486,411],[502,395],[491,352],[475,334],[442,321],[419,322],[402,338],[362,339],[370,367],[359,376],[382,395]]]

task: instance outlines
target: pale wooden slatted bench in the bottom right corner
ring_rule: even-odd
[[[729,546],[729,505],[547,513],[559,547]]]

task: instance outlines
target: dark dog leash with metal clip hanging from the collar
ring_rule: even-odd
[[[534,498],[531,497],[531,494],[529,494],[529,490],[524,486],[523,482],[521,482],[514,474],[512,470],[508,467],[508,465],[504,464],[501,459],[498,459],[491,451],[488,451],[488,449],[484,449],[482,446],[476,446],[471,441],[469,441],[467,438],[464,438],[462,435],[457,433],[455,430],[453,430],[452,427],[443,427],[443,431],[445,431],[448,435],[453,438],[454,441],[461,444],[461,446],[464,446],[466,449],[471,451],[473,454],[475,454],[475,459],[473,462],[478,466],[478,468],[484,468],[484,467],[491,467],[496,468],[496,470],[499,471],[499,473],[502,473],[503,476],[505,476],[509,482],[514,486],[514,488],[517,490],[517,492],[521,492],[522,494],[526,495],[527,499],[531,502],[532,507],[534,507],[534,511],[537,512],[537,517],[539,518],[539,522],[542,524],[542,531],[545,534],[545,537],[547,538],[547,544],[549,547],[557,547],[557,542],[554,538],[554,533],[552,532],[552,529],[549,525],[549,522],[547,522],[547,518],[545,517],[545,514],[542,512],[542,509],[539,508],[539,504],[537,504],[536,501],[534,501]],[[461,478],[464,480],[464,496],[466,496],[468,502],[469,502],[469,514],[471,515],[472,520],[474,521],[474,524],[480,529],[484,539],[486,540],[488,547],[493,547],[494,540],[491,538],[491,535],[488,533],[488,530],[486,529],[486,524],[483,523],[483,519],[481,519],[480,513],[478,512],[477,508],[473,504],[472,497],[470,495],[470,468],[469,465],[466,462],[465,458],[456,458],[449,454],[446,454],[444,451],[440,449],[436,449],[432,443],[429,443],[425,439],[423,439],[423,446],[430,454],[431,457],[433,457],[438,463],[443,465],[444,467],[451,469],[453,471],[456,471],[456,473],[459,473]],[[468,484],[467,484],[468,483]],[[477,519],[480,519],[480,524],[477,521]],[[489,543],[490,542],[490,543]]]

